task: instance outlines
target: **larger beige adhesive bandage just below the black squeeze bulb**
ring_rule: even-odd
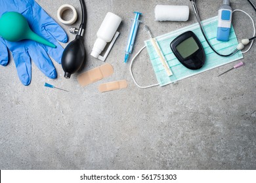
[[[96,67],[90,71],[87,71],[79,76],[77,76],[77,80],[81,86],[87,86],[93,82],[97,82],[98,80],[102,80],[108,76],[111,76],[114,73],[114,69],[110,63],[105,63],[100,65],[100,67]]]

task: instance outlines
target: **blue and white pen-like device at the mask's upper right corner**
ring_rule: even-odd
[[[228,41],[232,22],[232,8],[229,0],[223,0],[223,5],[219,8],[218,17],[217,40]]]

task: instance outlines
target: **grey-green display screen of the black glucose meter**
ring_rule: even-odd
[[[179,54],[182,56],[182,58],[187,58],[188,56],[191,56],[196,52],[199,47],[196,41],[194,40],[193,37],[189,37],[185,41],[182,41],[177,47],[177,51]]]

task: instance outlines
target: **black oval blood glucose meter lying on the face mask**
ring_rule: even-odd
[[[205,63],[205,52],[198,37],[192,32],[182,33],[170,44],[173,54],[188,69],[196,70]]]

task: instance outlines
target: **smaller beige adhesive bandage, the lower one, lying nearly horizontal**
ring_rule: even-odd
[[[115,82],[100,84],[100,86],[98,86],[98,90],[100,92],[108,92],[112,90],[120,90],[122,88],[127,88],[127,86],[128,84],[126,80],[119,80]]]

